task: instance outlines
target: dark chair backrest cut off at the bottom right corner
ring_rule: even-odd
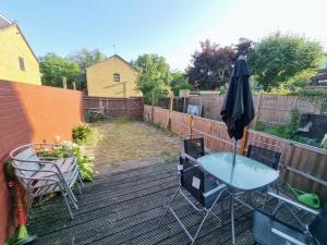
[[[320,213],[308,225],[308,231],[316,245],[327,244],[327,205],[324,206]]]

